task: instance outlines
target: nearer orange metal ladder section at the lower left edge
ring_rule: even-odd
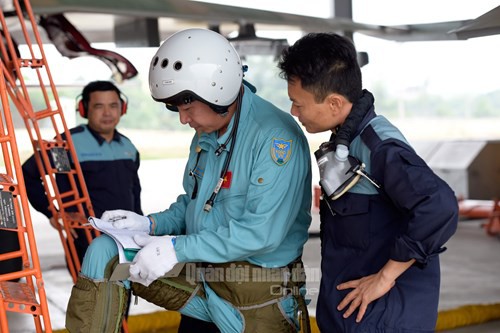
[[[2,73],[6,68],[2,62]],[[36,332],[52,332],[47,297],[38,259],[26,188],[10,113],[5,76],[0,76],[0,144],[4,169],[0,173],[0,228],[17,233],[19,250],[0,254],[0,261],[22,258],[22,269],[0,275],[0,332],[9,332],[7,312],[31,314]]]

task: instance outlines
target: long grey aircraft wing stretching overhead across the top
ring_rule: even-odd
[[[115,16],[143,18],[169,17],[178,20],[206,22],[207,24],[237,23],[288,26],[304,32],[347,31],[394,41],[456,40],[464,38],[459,33],[475,20],[409,24],[398,26],[365,24],[348,18],[320,18],[268,10],[220,5],[187,0],[31,0],[37,14],[100,13]],[[498,8],[496,8],[498,11]],[[493,23],[500,25],[498,14]],[[479,18],[478,18],[479,19]],[[99,22],[94,22],[98,25]],[[78,26],[78,24],[75,24]],[[465,37],[468,38],[468,37]]]

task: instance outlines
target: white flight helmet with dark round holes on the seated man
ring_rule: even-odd
[[[243,66],[234,47],[206,29],[186,29],[167,38],[149,68],[151,96],[172,111],[199,100],[225,113],[242,81]]]

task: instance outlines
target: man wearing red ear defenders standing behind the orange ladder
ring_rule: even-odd
[[[116,130],[127,111],[125,95],[109,81],[93,81],[83,88],[76,111],[88,120],[70,129],[70,133],[94,213],[101,216],[106,210],[127,209],[142,214],[139,152]],[[34,156],[23,164],[23,175],[31,205],[56,227],[59,222],[49,210]],[[69,188],[64,174],[57,175],[57,182],[60,189]],[[88,241],[82,229],[75,231],[75,247],[82,262]]]

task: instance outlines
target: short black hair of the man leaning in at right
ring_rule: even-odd
[[[338,93],[351,103],[361,97],[361,68],[353,42],[335,33],[309,33],[281,53],[280,77],[300,80],[317,102]]]

